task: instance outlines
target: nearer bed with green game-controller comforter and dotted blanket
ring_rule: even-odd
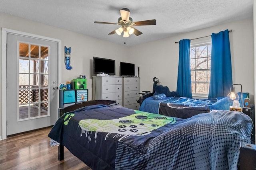
[[[96,100],[60,115],[48,134],[59,160],[64,146],[93,170],[237,169],[240,142],[251,142],[252,121],[236,111],[181,119]]]

